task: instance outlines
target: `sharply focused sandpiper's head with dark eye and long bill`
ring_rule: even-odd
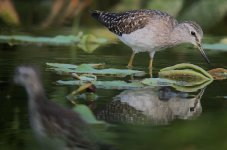
[[[201,54],[203,55],[207,63],[210,63],[210,60],[208,59],[202,47],[202,38],[203,38],[202,28],[193,21],[184,21],[180,25],[182,25],[183,27],[182,29],[185,33],[184,37],[182,37],[184,38],[183,40],[187,43],[192,43],[193,45],[195,45],[199,49],[199,51],[201,52]]]

